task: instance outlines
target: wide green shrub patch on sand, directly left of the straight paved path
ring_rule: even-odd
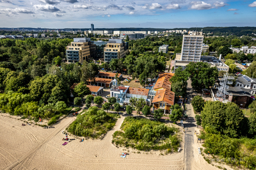
[[[121,130],[113,134],[113,144],[140,151],[166,150],[166,153],[177,151],[180,139],[175,127],[168,127],[160,121],[145,118],[127,117]]]

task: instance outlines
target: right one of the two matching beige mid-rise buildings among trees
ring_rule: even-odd
[[[109,62],[111,59],[124,58],[125,54],[129,52],[128,42],[122,39],[109,40],[104,48],[104,61]]]

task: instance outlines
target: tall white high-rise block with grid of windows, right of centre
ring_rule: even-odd
[[[202,32],[193,31],[189,35],[183,35],[181,61],[195,61],[199,62],[204,35]]]

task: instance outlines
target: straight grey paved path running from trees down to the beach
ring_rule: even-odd
[[[185,129],[185,170],[190,170],[193,167],[194,157],[193,157],[193,143],[195,137],[195,114],[192,109],[191,100],[193,95],[193,89],[191,87],[191,81],[188,81],[188,89],[187,89],[187,98],[188,102],[186,104],[187,107],[187,115],[188,120],[184,123]],[[187,130],[188,129],[188,130]]]

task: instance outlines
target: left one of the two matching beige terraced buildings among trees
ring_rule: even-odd
[[[66,49],[67,63],[83,63],[90,58],[90,38],[74,38]]]

